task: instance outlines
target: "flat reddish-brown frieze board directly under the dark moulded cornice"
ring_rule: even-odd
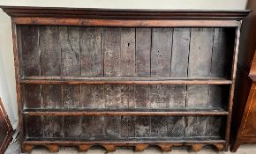
[[[34,26],[106,26],[106,27],[236,27],[237,20],[207,19],[81,19],[81,18],[13,18],[14,24]]]

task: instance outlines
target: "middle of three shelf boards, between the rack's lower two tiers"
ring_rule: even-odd
[[[227,115],[222,108],[178,108],[178,109],[110,109],[110,108],[73,108],[73,109],[25,109],[27,115]]]

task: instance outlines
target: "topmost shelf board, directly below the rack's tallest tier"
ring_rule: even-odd
[[[232,84],[220,77],[26,77],[20,84]]]

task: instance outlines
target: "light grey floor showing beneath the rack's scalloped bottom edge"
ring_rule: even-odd
[[[8,149],[5,151],[4,154],[19,154],[19,141],[11,143]],[[48,154],[51,153],[49,150],[44,148],[35,148],[32,151],[32,154]],[[92,149],[88,150],[87,152],[79,152],[75,148],[61,148],[59,152],[56,154],[103,154],[106,153],[105,150],[101,148],[92,147]],[[189,149],[186,148],[176,148],[170,152],[162,152],[161,150],[149,147],[147,150],[142,152],[134,152],[132,149],[117,149],[115,152],[109,152],[109,154],[228,154],[229,152],[215,152],[212,148],[206,148],[204,150],[200,150],[199,152],[191,152]],[[245,144],[241,145],[240,148],[237,150],[237,154],[256,154],[256,144]]]

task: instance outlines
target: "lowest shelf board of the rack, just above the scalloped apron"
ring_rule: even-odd
[[[139,138],[104,138],[101,140],[93,141],[89,139],[83,139],[78,137],[53,137],[53,138],[26,138],[25,143],[69,143],[76,142],[79,144],[82,143],[225,143],[225,140],[220,136],[204,136],[204,137],[165,137],[165,138],[157,138],[157,137],[139,137]]]

